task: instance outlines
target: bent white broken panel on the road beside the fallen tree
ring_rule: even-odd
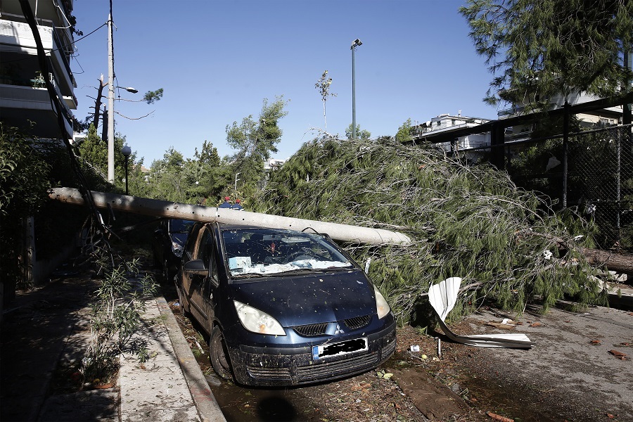
[[[434,284],[428,289],[428,300],[431,306],[440,316],[440,326],[442,331],[453,341],[463,343],[465,345],[477,347],[513,347],[513,348],[530,348],[533,346],[532,341],[525,334],[520,333],[504,333],[504,334],[475,334],[475,335],[459,335],[453,333],[445,324],[445,319],[449,312],[455,306],[461,278],[451,277],[441,283]]]

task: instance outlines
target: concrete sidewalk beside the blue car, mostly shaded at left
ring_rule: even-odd
[[[55,374],[75,367],[86,350],[96,286],[85,276],[62,278],[19,293],[3,313],[0,420],[225,421],[162,297],[146,301],[134,338],[148,350],[146,362],[123,355],[117,385],[51,395],[70,376]]]

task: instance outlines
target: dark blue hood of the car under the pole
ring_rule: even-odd
[[[376,313],[373,287],[362,271],[241,281],[232,283],[231,289],[235,300],[266,312],[285,327]]]

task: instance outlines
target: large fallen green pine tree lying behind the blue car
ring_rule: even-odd
[[[407,322],[431,284],[463,279],[452,316],[485,300],[522,312],[539,298],[606,303],[582,254],[593,245],[580,217],[488,165],[465,165],[433,146],[392,139],[305,143],[271,179],[255,210],[401,231],[410,245],[346,245]],[[581,236],[582,235],[582,236]],[[580,242],[584,242],[580,243]]]

